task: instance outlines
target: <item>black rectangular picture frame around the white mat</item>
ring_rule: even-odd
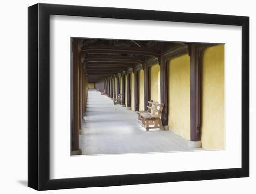
[[[50,15],[242,26],[242,167],[50,180]],[[249,17],[41,3],[28,7],[28,187],[52,190],[236,177],[249,177]]]

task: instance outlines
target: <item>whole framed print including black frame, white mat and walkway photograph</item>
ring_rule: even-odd
[[[28,187],[249,176],[249,17],[28,7]]]

